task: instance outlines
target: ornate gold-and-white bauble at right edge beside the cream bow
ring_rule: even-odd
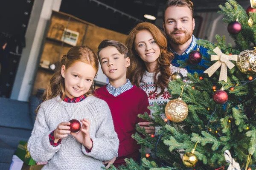
[[[256,74],[256,51],[242,51],[237,57],[236,66],[244,74]]]

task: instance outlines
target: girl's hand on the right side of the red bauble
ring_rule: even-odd
[[[78,133],[70,133],[73,135],[78,142],[83,144],[87,149],[91,149],[93,146],[93,142],[90,139],[89,129],[90,129],[90,122],[87,119],[80,120],[82,122],[82,127]]]

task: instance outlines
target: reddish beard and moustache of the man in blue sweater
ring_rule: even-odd
[[[174,34],[178,34],[178,33],[185,33],[185,36],[175,36],[174,35]],[[167,36],[167,40],[169,42],[172,42],[176,45],[183,45],[192,37],[192,34],[193,34],[193,30],[186,31],[186,30],[175,29],[170,34],[166,34],[166,36]]]

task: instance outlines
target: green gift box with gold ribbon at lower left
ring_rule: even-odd
[[[27,145],[28,143],[25,141],[20,141],[18,148],[16,150],[16,155],[27,165],[35,165],[36,161],[34,161],[31,156],[30,153],[27,149]]]

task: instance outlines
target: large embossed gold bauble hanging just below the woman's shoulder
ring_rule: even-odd
[[[189,108],[179,97],[167,103],[165,107],[166,117],[172,122],[182,122],[188,116]]]

